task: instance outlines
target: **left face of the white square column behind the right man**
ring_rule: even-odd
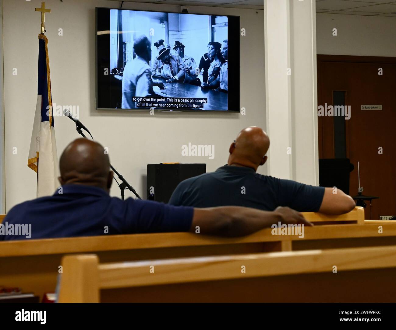
[[[268,175],[292,178],[289,67],[289,1],[264,0],[265,100],[270,137]]]

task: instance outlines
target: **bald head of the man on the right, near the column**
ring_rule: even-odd
[[[241,130],[230,146],[228,165],[257,168],[267,160],[265,154],[270,146],[270,139],[263,129],[251,126]]]

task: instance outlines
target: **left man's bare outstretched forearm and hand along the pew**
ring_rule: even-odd
[[[236,237],[249,235],[278,222],[312,226],[303,215],[289,207],[275,211],[261,211],[249,207],[222,206],[194,209],[190,232],[200,228],[200,234]]]

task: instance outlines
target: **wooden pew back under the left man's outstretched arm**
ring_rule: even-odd
[[[356,214],[359,209],[351,213],[352,219],[358,221]],[[312,216],[307,217],[312,221]],[[322,223],[329,219],[326,215],[315,216]],[[345,219],[345,215],[331,218]],[[396,226],[392,224],[383,225],[383,234],[378,233],[376,224],[315,226],[305,228],[304,238],[274,236],[268,228],[242,238],[160,233],[6,241],[0,242],[0,285],[19,286],[39,296],[53,292],[61,257],[71,253],[95,253],[102,262],[116,262],[393,244],[396,245]]]

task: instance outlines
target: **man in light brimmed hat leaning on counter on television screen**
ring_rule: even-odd
[[[157,60],[163,62],[161,76],[166,79],[167,83],[176,81],[183,83],[185,78],[184,62],[177,53],[170,54],[170,49],[160,46],[158,47]]]

